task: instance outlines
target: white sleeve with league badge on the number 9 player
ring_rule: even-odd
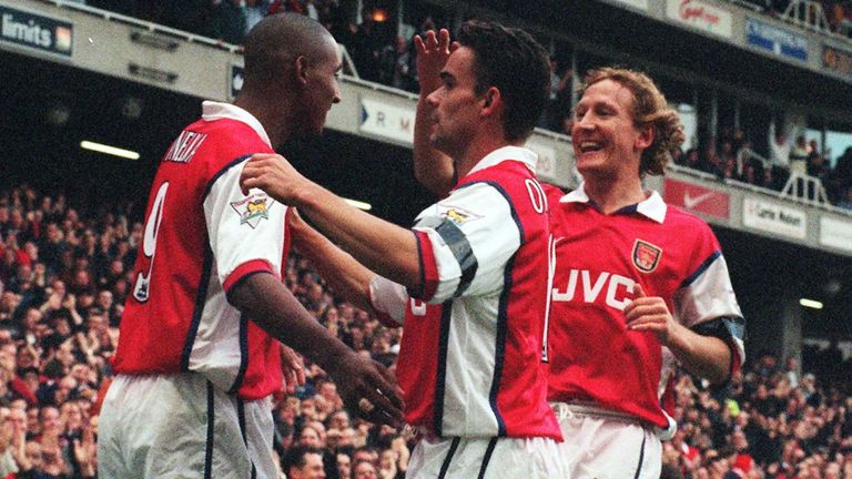
[[[257,188],[244,195],[240,190],[244,165],[220,172],[204,197],[210,247],[225,291],[258,271],[280,277],[284,255],[287,208]]]

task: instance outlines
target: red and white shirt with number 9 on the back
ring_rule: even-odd
[[[281,277],[286,207],[260,190],[240,190],[251,154],[273,153],[261,123],[231,104],[203,109],[154,177],[113,367],[197,371],[257,399],[281,388],[280,346],[226,293],[252,274]]]

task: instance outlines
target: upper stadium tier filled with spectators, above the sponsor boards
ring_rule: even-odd
[[[335,35],[346,48],[358,75],[367,81],[386,84],[399,90],[417,92],[415,72],[416,52],[410,35],[406,39],[395,34],[383,17],[383,9],[364,8],[359,16],[347,16],[336,0],[300,1],[219,1],[219,2],[138,2],[115,0],[88,0],[92,7],[109,9],[152,22],[185,30],[204,37],[210,37],[226,43],[240,44],[245,33],[263,16],[278,11],[295,11],[311,14]],[[767,1],[749,2],[738,0],[739,6],[750,6],[764,14],[782,19],[798,28],[818,33],[834,35],[838,31],[849,30],[852,24],[852,11],[843,2],[823,4],[813,0],[794,0],[791,2]],[[825,12],[832,12],[831,21]],[[352,17],[352,18],[351,18]],[[379,21],[374,20],[374,17]],[[358,21],[359,19],[359,21]],[[438,24],[425,16],[416,19],[418,32],[428,29],[447,27]],[[571,77],[570,65],[560,65],[559,61],[566,52],[554,51],[552,88],[550,102],[546,113],[539,121],[539,126],[559,132],[568,132],[571,112]],[[830,166],[828,152],[821,153],[815,142],[805,146],[807,169],[799,173],[792,184],[788,183],[790,171],[788,159],[778,161],[770,152],[764,155],[753,150],[752,140],[765,136],[767,131],[743,131],[733,125],[720,129],[718,139],[707,142],[699,152],[698,165],[686,164],[683,152],[672,152],[677,164],[694,167],[698,171],[716,175],[720,180],[737,180],[743,183],[783,191],[793,197],[822,204],[836,204],[841,201],[849,181],[835,175]],[[746,147],[746,150],[743,150]],[[771,149],[770,149],[771,150]],[[744,156],[744,157],[743,157]],[[834,159],[840,161],[840,155]],[[798,187],[801,184],[804,186]]]

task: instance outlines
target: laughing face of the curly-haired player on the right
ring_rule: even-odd
[[[639,174],[650,145],[650,129],[633,124],[633,94],[621,83],[602,80],[588,86],[575,110],[571,142],[584,177]]]

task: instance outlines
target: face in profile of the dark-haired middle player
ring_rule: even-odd
[[[466,47],[453,52],[440,72],[442,86],[426,99],[435,109],[429,141],[454,159],[463,154],[479,123],[474,55]]]

